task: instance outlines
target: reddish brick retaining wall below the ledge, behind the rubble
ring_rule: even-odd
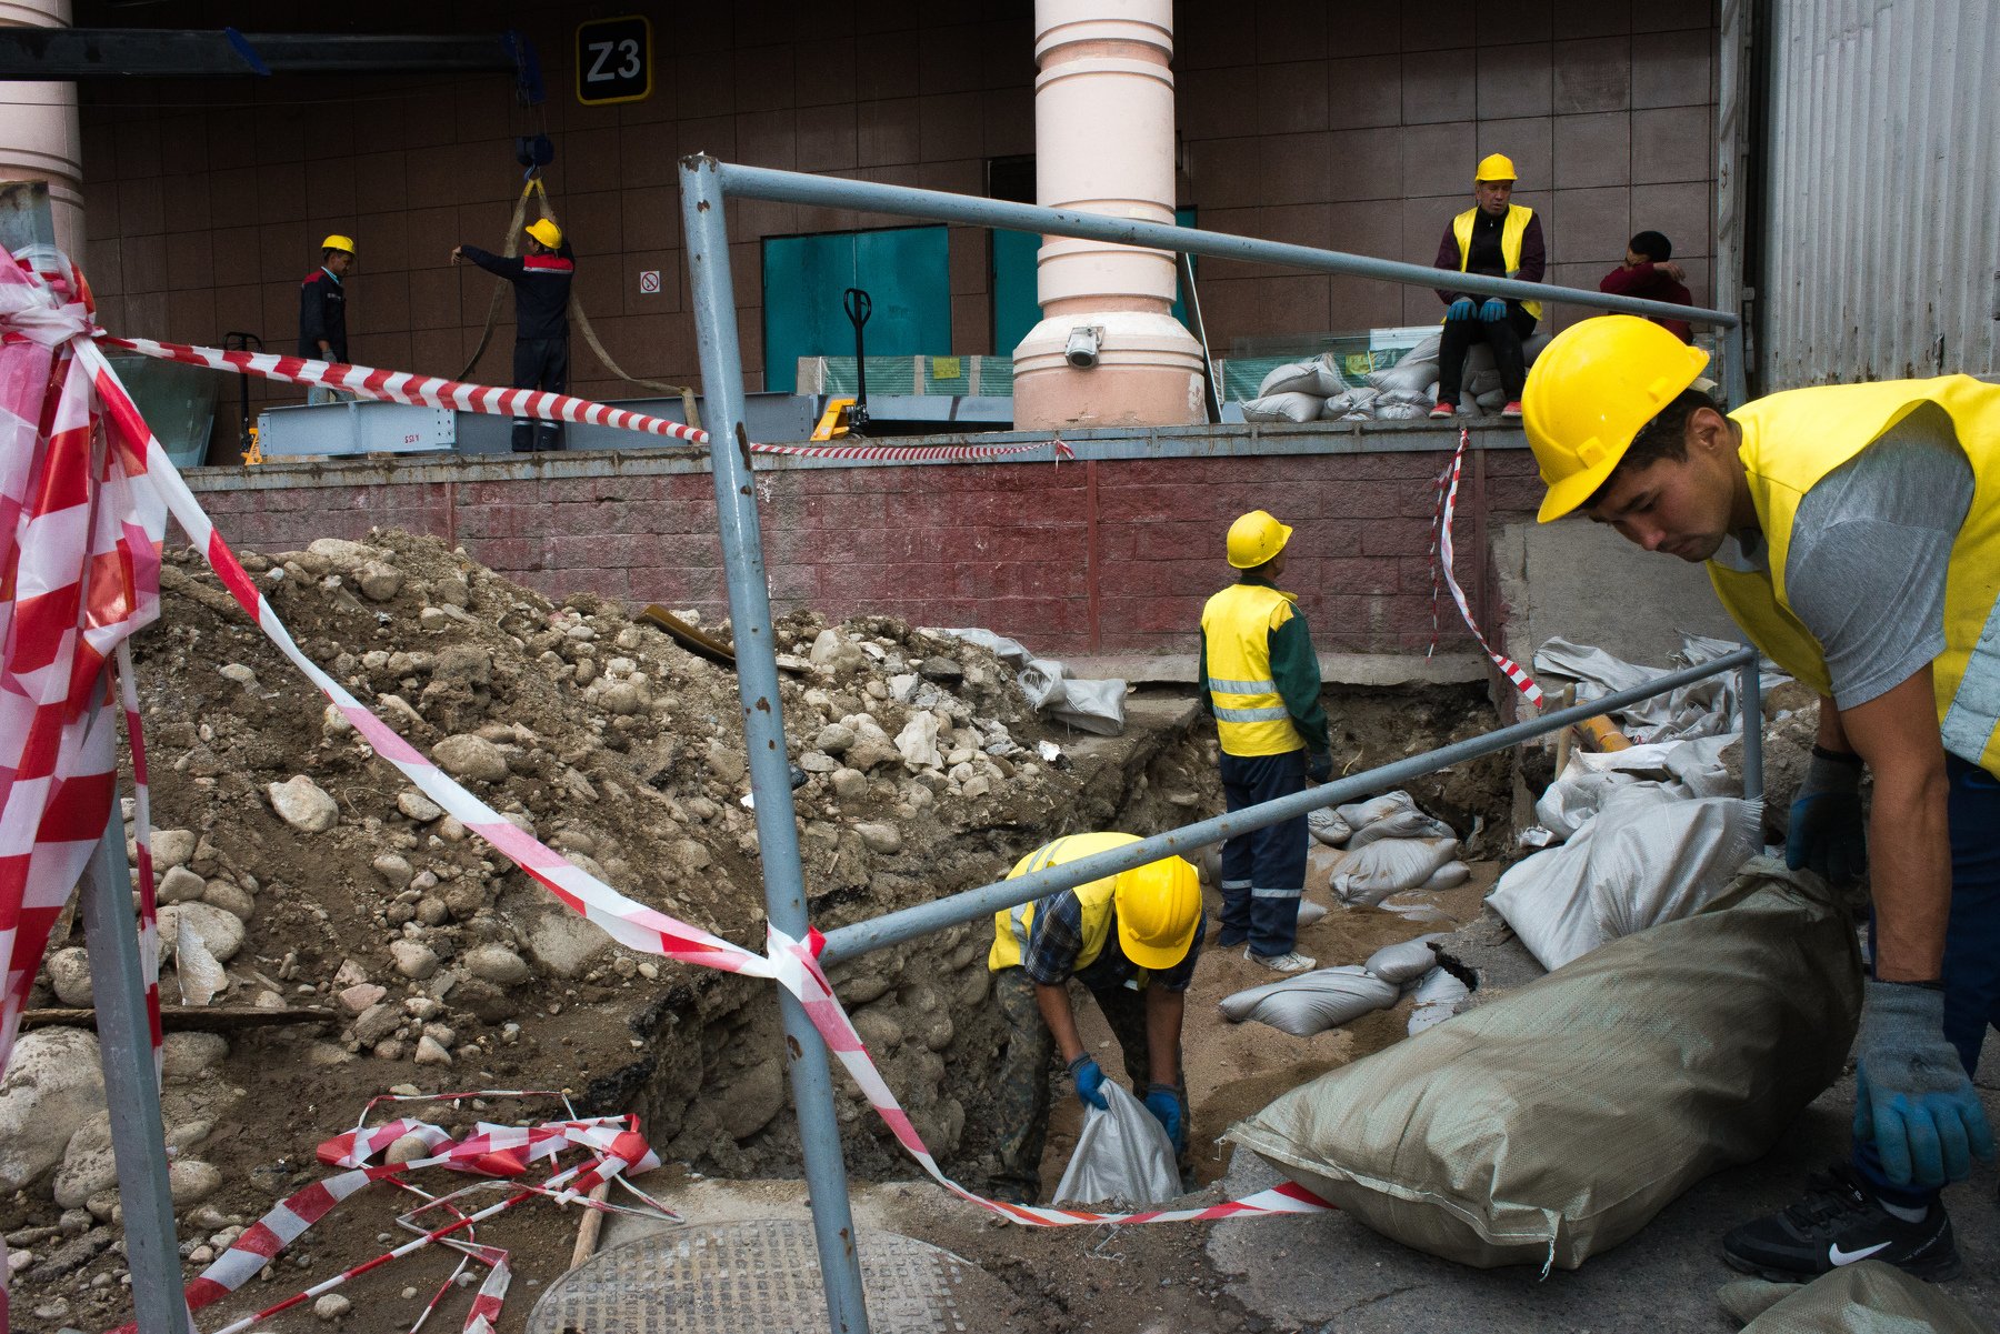
[[[1268,508],[1296,528],[1284,584],[1322,650],[1422,652],[1430,642],[1432,488],[1448,454],[1078,450],[1084,458],[1060,466],[760,464],[774,608],[986,626],[1052,654],[1186,652],[1202,602],[1230,578],[1230,520]],[[590,468],[604,476],[580,476]],[[250,550],[394,524],[460,542],[554,596],[590,590],[728,614],[714,484],[688,460],[462,462],[420,480],[370,462],[280,464],[254,482],[220,468],[190,478],[224,538]],[[1486,620],[1500,614],[1486,596],[1486,532],[1526,518],[1538,498],[1526,450],[1470,456],[1458,574]],[[1444,642],[1468,648],[1450,604]]]

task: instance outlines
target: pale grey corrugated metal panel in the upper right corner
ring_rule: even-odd
[[[2000,4],[1780,0],[1766,390],[2000,372]]]

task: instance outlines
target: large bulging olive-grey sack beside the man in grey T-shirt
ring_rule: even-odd
[[[1860,950],[1816,876],[1758,858],[1706,912],[1294,1088],[1226,1138],[1448,1260],[1576,1268],[1838,1078]]]

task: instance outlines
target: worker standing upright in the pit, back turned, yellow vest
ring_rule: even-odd
[[[1236,582],[1202,608],[1202,708],[1222,742],[1222,800],[1230,810],[1326,782],[1334,756],[1320,708],[1320,660],[1306,618],[1280,592],[1292,530],[1252,510],[1228,536]],[[1220,944],[1272,972],[1306,972],[1298,900],[1306,892],[1306,816],[1238,834],[1222,844]]]

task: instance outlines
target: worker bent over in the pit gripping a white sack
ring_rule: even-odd
[[[1134,842],[1132,834],[1070,834],[1014,862],[1006,878]],[[1160,1118],[1174,1152],[1186,1158],[1180,1020],[1200,952],[1202,884],[1194,866],[1178,856],[994,914],[986,966],[1008,1030],[994,1198],[1034,1204],[1042,1194],[1052,1050],[1062,1052],[1076,1096],[1088,1106],[1106,1106],[1104,1070],[1076,1034],[1072,978],[1096,998],[1124,1052],[1132,1090]]]

